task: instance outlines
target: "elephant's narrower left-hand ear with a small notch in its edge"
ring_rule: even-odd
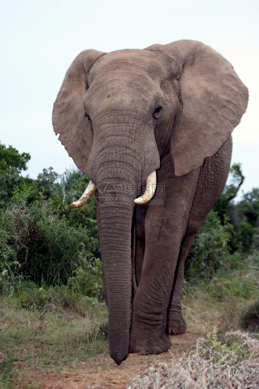
[[[96,50],[85,50],[75,58],[66,72],[52,112],[56,135],[59,133],[59,140],[68,155],[86,175],[93,133],[83,106],[87,91],[85,75],[92,64],[104,54]]]

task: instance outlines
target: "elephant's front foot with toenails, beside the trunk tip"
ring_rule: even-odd
[[[162,354],[170,348],[170,340],[164,333],[162,336],[142,338],[140,335],[131,335],[130,352],[137,354]]]

